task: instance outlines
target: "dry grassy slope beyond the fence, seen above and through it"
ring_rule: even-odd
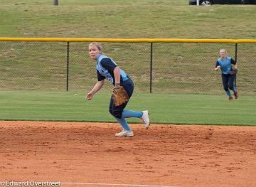
[[[239,12],[239,16],[238,16]],[[188,6],[188,0],[2,0],[0,37],[255,38],[256,6]],[[0,42],[0,90],[64,91],[66,43]],[[88,43],[70,43],[69,90],[95,84]],[[104,52],[149,92],[150,43],[104,43]],[[218,50],[233,43],[154,43],[153,90],[222,93],[213,72]],[[240,92],[256,90],[255,44],[238,46]],[[166,68],[167,67],[167,68]]]

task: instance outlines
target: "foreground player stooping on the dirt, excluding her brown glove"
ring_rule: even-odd
[[[114,60],[105,55],[102,55],[102,46],[100,43],[90,43],[89,54],[90,57],[96,61],[97,83],[92,88],[92,90],[87,93],[87,100],[92,100],[93,95],[95,95],[95,93],[98,92],[104,85],[105,79],[109,80],[114,86],[124,87],[124,90],[129,95],[129,98],[132,97],[134,83],[129,78],[127,73],[125,73],[124,70],[117,66],[117,63],[115,63]],[[129,127],[127,120],[125,119],[128,117],[137,117],[142,119],[146,129],[149,128],[149,112],[147,110],[132,111],[129,109],[124,109],[127,103],[128,102],[125,102],[122,105],[115,106],[112,97],[110,98],[110,114],[112,114],[112,116],[117,119],[117,122],[121,124],[123,129],[122,132],[115,134],[116,137],[134,136],[131,127]]]

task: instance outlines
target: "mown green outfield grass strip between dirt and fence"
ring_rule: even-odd
[[[0,92],[0,119],[115,122],[108,113],[109,92],[85,100],[85,92]],[[139,94],[127,109],[151,112],[152,123],[256,125],[256,97],[225,95]],[[139,119],[128,119],[140,122]]]

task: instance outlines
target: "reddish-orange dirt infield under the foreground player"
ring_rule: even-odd
[[[256,186],[256,127],[0,121],[0,186]],[[127,184],[127,185],[124,185]]]

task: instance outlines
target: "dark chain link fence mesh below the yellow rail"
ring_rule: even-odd
[[[97,82],[89,42],[0,41],[0,91],[85,91]],[[103,53],[130,75],[136,92],[223,93],[214,70],[220,48],[235,43],[102,42]],[[256,43],[238,43],[240,94],[256,93]],[[104,89],[112,87],[105,81]]]

